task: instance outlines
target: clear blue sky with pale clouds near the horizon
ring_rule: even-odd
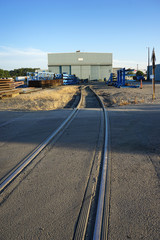
[[[160,0],[0,0],[0,68],[47,68],[51,52],[111,52],[113,67],[160,63]]]

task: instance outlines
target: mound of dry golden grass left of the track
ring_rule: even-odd
[[[44,89],[15,98],[0,100],[0,110],[41,111],[64,108],[78,92],[78,86],[61,86]]]

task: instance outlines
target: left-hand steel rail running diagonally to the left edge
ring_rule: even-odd
[[[38,147],[36,147],[12,173],[10,173],[0,183],[0,193],[31,163],[31,161],[37,157],[37,155],[49,144],[49,142],[57,136],[57,134],[65,127],[65,125],[73,119],[73,116],[78,111],[82,102],[82,94],[80,101],[76,108],[73,109],[71,114],[63,121],[63,123],[49,136],[47,137]]]

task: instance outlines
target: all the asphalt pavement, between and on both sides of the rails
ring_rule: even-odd
[[[84,106],[88,100],[83,101]],[[0,112],[0,164],[5,169],[1,176],[69,111]],[[108,239],[159,240],[160,105],[127,105],[108,111],[112,165]],[[2,239],[72,238],[97,143],[99,118],[98,109],[80,110],[74,130],[68,127],[54,148],[40,155],[40,163],[1,206]],[[6,153],[10,157],[6,158]]]

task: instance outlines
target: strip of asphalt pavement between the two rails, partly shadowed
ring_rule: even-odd
[[[101,111],[81,109],[1,205],[1,239],[72,239],[98,141]]]

